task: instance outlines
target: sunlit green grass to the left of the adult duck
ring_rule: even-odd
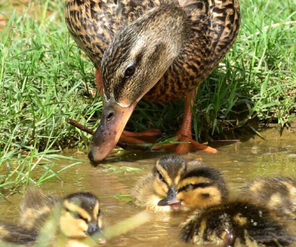
[[[69,43],[64,4],[50,3],[2,13],[8,22],[0,34],[0,188],[58,177],[55,158],[65,157],[57,152],[81,145],[84,136],[67,119],[83,124],[102,106],[90,90],[91,64]],[[34,170],[44,173],[33,180]]]

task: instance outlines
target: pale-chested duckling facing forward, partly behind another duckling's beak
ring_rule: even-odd
[[[157,206],[157,203],[168,196],[176,195],[177,184],[186,169],[187,163],[181,156],[170,154],[161,157],[153,169],[132,188],[133,203],[152,212],[180,209],[179,205]]]

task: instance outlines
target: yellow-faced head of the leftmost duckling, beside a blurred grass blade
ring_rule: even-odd
[[[100,204],[93,194],[88,192],[74,193],[64,199],[60,229],[67,238],[92,237],[96,233],[102,233],[101,228]],[[104,243],[106,241],[104,234],[100,234],[96,241]]]

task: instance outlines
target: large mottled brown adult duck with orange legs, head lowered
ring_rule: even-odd
[[[74,41],[94,63],[97,87],[103,86],[104,110],[88,152],[93,164],[119,139],[143,143],[123,131],[142,98],[161,103],[185,97],[178,140],[217,152],[192,139],[191,105],[198,85],[235,41],[237,0],[66,0],[65,18]],[[176,151],[189,148],[183,143]]]

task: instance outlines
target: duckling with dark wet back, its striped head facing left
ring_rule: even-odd
[[[198,209],[181,224],[181,237],[185,242],[196,245],[286,246],[296,241],[296,236],[291,235],[267,208],[241,200],[230,202],[219,171],[206,169],[208,173],[201,172],[200,168],[185,173],[177,186],[176,197],[166,199],[166,204],[163,204],[181,202]]]

